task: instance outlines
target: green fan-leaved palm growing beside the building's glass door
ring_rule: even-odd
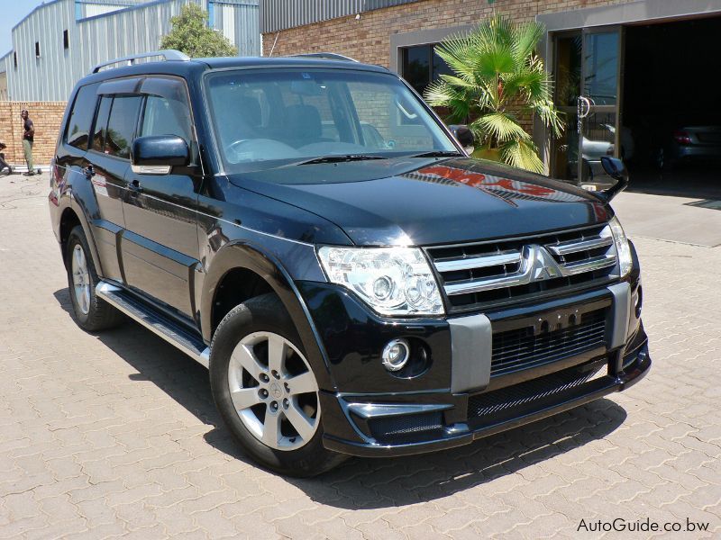
[[[543,162],[517,113],[535,114],[559,137],[563,121],[552,102],[551,77],[534,49],[540,23],[511,23],[494,15],[470,34],[458,34],[435,48],[454,75],[429,85],[425,100],[450,111],[448,121],[470,123],[476,139],[508,165],[543,172]]]

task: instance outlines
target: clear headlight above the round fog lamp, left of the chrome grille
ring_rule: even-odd
[[[382,315],[443,315],[438,285],[417,247],[321,247],[318,258],[334,284]]]

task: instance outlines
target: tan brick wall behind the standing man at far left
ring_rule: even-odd
[[[55,152],[65,106],[65,102],[0,102],[0,140],[7,145],[3,150],[5,161],[14,166],[25,164],[20,112],[27,109],[35,124],[33,162],[35,166],[49,165]]]

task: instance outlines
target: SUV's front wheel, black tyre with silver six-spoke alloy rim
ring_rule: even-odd
[[[225,425],[262,466],[308,477],[344,461],[323,446],[315,374],[277,295],[252,298],[224,317],[211,344],[210,383]]]

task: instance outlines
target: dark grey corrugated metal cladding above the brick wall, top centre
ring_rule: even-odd
[[[285,30],[418,0],[260,0],[260,31]]]

